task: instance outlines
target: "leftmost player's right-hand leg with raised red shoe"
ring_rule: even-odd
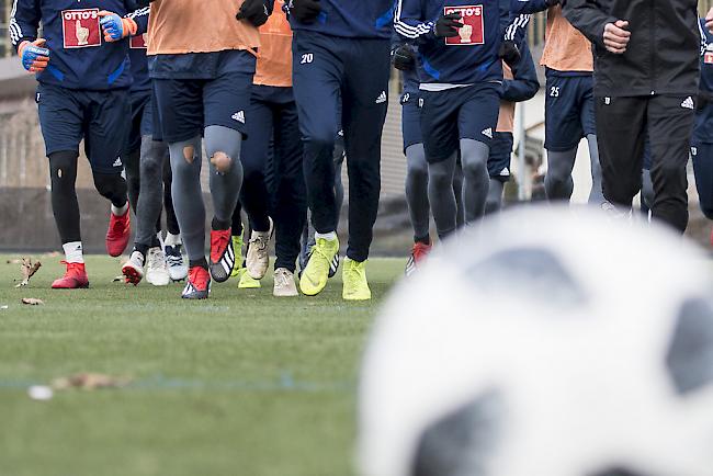
[[[126,181],[122,177],[122,151],[128,136],[132,109],[126,90],[87,92],[91,100],[84,123],[84,149],[92,168],[94,186],[111,202],[111,218],[106,231],[106,251],[121,256],[131,238],[131,214]]]

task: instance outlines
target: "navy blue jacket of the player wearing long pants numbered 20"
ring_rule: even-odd
[[[321,14],[312,24],[299,23],[294,16],[294,31],[313,31],[349,38],[392,37],[394,0],[321,0]]]

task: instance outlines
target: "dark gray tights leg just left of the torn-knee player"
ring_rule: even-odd
[[[150,247],[156,242],[156,223],[163,206],[163,162],[167,156],[166,143],[154,140],[150,135],[142,137],[139,162],[142,180],[136,205],[137,245]]]

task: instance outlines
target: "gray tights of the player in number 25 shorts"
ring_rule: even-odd
[[[590,134],[587,136],[589,145],[589,159],[591,162],[591,192],[589,193],[589,203],[600,205],[604,202],[601,190],[601,166],[599,163],[599,147],[597,136]],[[545,175],[545,192],[551,201],[571,199],[574,191],[574,181],[571,170],[577,159],[577,147],[566,151],[547,151],[547,174]]]

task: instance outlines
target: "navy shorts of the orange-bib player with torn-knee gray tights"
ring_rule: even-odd
[[[246,111],[250,106],[254,68],[252,54],[223,52],[208,79],[155,79],[163,140],[188,140],[202,135],[207,126],[229,127],[247,136]]]

